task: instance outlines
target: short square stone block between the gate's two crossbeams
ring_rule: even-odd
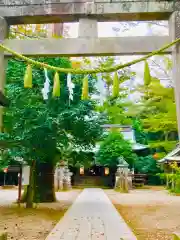
[[[88,18],[79,19],[78,37],[97,38],[98,37],[97,20]]]

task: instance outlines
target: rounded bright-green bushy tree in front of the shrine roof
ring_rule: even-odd
[[[126,141],[119,132],[110,132],[100,144],[97,162],[104,166],[116,167],[118,158],[123,156],[132,167],[136,154],[132,151],[130,142]]]

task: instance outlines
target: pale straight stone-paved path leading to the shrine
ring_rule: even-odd
[[[102,189],[85,189],[46,240],[136,240]]]

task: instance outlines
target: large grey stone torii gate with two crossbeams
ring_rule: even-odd
[[[180,38],[180,0],[0,0],[0,41],[26,56],[142,55]],[[169,36],[98,38],[98,21],[169,20]],[[8,40],[10,25],[79,21],[74,39]],[[180,44],[173,56],[173,79],[180,139]],[[0,90],[6,58],[0,52]],[[2,114],[0,114],[2,129]]]

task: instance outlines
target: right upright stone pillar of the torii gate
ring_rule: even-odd
[[[177,38],[180,38],[180,11],[175,11],[170,16],[169,33],[172,41],[174,41]],[[172,62],[173,62],[172,77],[174,82],[176,99],[178,136],[180,141],[180,43],[172,47]]]

